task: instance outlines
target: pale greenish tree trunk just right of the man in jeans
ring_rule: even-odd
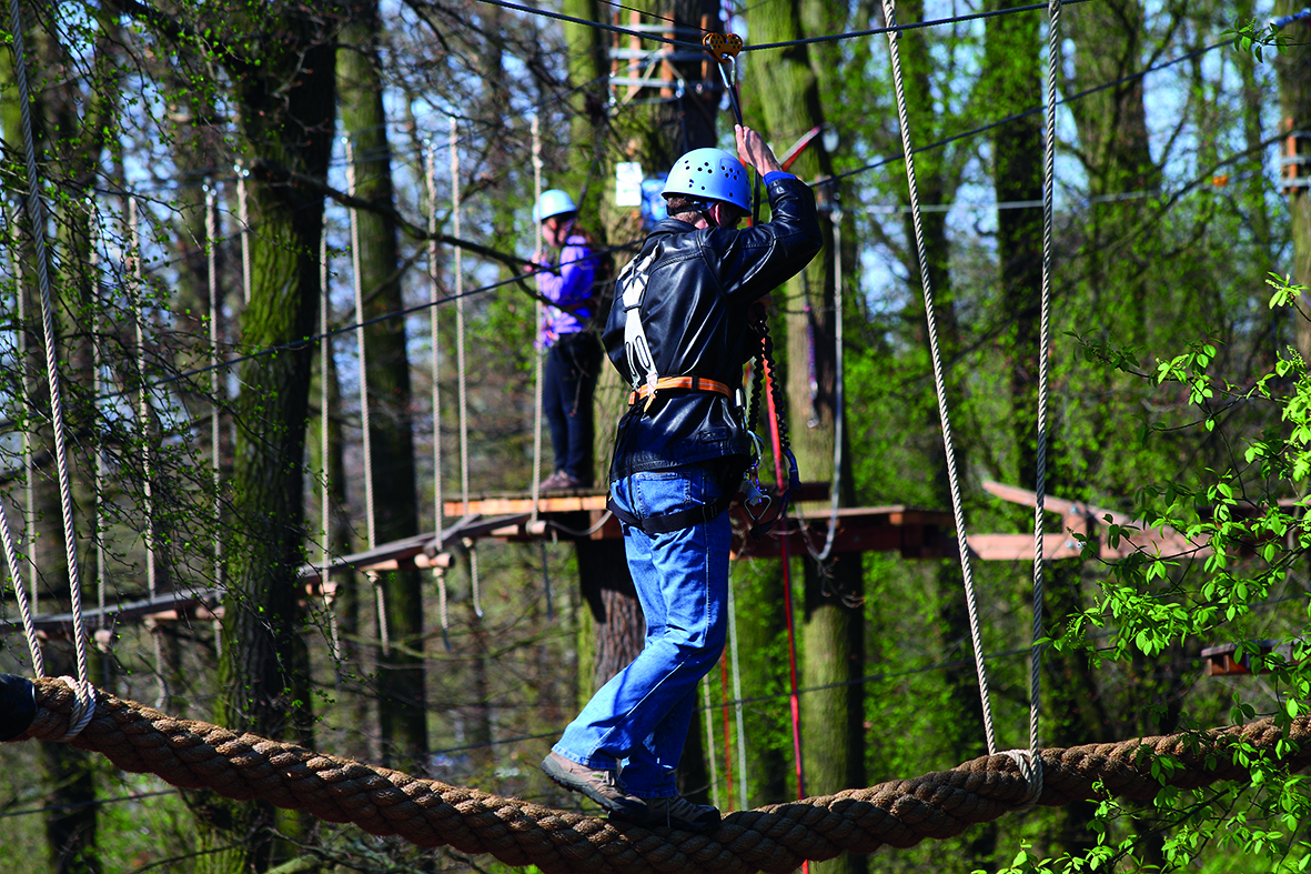
[[[753,41],[784,42],[813,35],[802,22],[823,21],[825,5],[791,0],[755,8]],[[762,106],[766,133],[777,138],[776,151],[826,121],[818,66],[810,47],[802,45],[771,64],[762,64],[753,80],[758,87],[753,91],[758,94],[753,105]],[[832,176],[832,160],[822,138],[812,142],[792,172],[808,181]],[[821,199],[827,206],[831,193],[823,192]],[[832,214],[822,209],[823,252],[775,293],[775,307],[785,314],[787,324],[787,362],[780,365],[780,377],[787,386],[788,433],[802,478],[818,482],[834,476],[836,421],[844,415],[838,408],[836,392],[835,301],[840,290],[835,287],[832,222]],[[767,430],[771,423],[762,421],[759,427]],[[842,458],[851,457],[850,446],[842,450]],[[855,504],[850,475],[839,471],[836,488],[840,505]],[[864,575],[857,555],[830,556],[823,566],[805,560],[804,573],[800,684],[812,692],[801,697],[801,751],[805,794],[818,795],[865,785],[864,686],[856,682],[865,672]],[[857,873],[865,867],[863,856],[850,853],[814,865],[815,871],[829,873]]]

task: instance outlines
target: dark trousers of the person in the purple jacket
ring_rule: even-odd
[[[590,333],[566,333],[547,350],[541,411],[551,427],[556,470],[591,484],[591,395],[600,371],[600,343]]]

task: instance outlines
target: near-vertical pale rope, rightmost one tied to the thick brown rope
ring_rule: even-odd
[[[1038,331],[1038,465],[1033,491],[1033,643],[1029,654],[1029,760],[1036,772],[1034,798],[1042,794],[1042,761],[1038,759],[1038,713],[1042,692],[1042,513],[1047,472],[1047,348],[1051,344],[1051,211],[1055,189],[1057,60],[1061,46],[1061,0],[1047,4],[1047,115],[1042,150],[1042,318]]]

